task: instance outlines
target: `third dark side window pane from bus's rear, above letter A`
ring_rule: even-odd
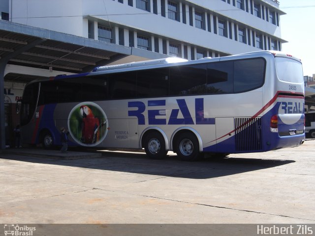
[[[184,65],[170,68],[170,95],[206,93],[207,65]]]

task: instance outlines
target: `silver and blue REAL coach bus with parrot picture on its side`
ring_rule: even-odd
[[[172,150],[263,152],[304,142],[304,80],[299,59],[259,51],[198,60],[158,59],[97,67],[36,80],[21,108],[24,144],[144,148],[151,158]]]

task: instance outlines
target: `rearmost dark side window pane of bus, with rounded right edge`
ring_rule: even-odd
[[[234,92],[256,89],[263,84],[264,59],[237,60],[234,62]]]

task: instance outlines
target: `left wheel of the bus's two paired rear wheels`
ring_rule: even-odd
[[[152,159],[163,159],[166,157],[165,141],[159,132],[150,132],[144,139],[144,150]]]

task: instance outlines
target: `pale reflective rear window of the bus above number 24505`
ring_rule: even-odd
[[[279,80],[290,83],[303,83],[303,69],[299,61],[276,57],[276,68]]]

